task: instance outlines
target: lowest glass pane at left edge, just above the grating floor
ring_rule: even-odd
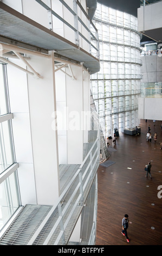
[[[0,230],[19,206],[15,173],[0,184]]]

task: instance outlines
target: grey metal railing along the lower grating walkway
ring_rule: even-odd
[[[38,244],[37,240],[41,240],[42,236],[43,245],[67,245],[99,166],[100,129],[97,113],[94,113],[93,121],[98,129],[98,135],[92,148],[57,203],[51,208],[40,227],[28,241],[28,245]],[[50,230],[49,222],[53,222]]]

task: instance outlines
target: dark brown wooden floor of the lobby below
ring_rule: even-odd
[[[146,142],[148,124],[157,132],[154,143]],[[98,218],[96,245],[162,245],[162,186],[161,121],[141,120],[138,136],[120,133],[115,152],[110,153],[109,167],[98,169]],[[112,142],[111,142],[112,144]],[[152,180],[145,177],[145,164],[151,161]],[[128,169],[131,168],[131,169]],[[161,190],[162,195],[162,190]],[[154,205],[152,205],[154,204]],[[121,234],[125,214],[132,222],[128,227],[130,242]],[[154,229],[153,229],[153,228]]]

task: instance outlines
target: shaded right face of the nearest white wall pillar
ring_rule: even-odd
[[[56,111],[53,52],[49,59],[32,56],[29,64],[43,77],[28,75],[37,203],[53,205],[59,197],[57,130],[52,119]]]

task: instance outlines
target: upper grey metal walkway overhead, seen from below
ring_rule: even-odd
[[[12,44],[12,40],[15,40],[23,48],[39,48],[46,53],[55,51],[60,56],[83,63],[90,74],[100,70],[99,59],[92,54],[2,2],[0,23],[0,42]]]

